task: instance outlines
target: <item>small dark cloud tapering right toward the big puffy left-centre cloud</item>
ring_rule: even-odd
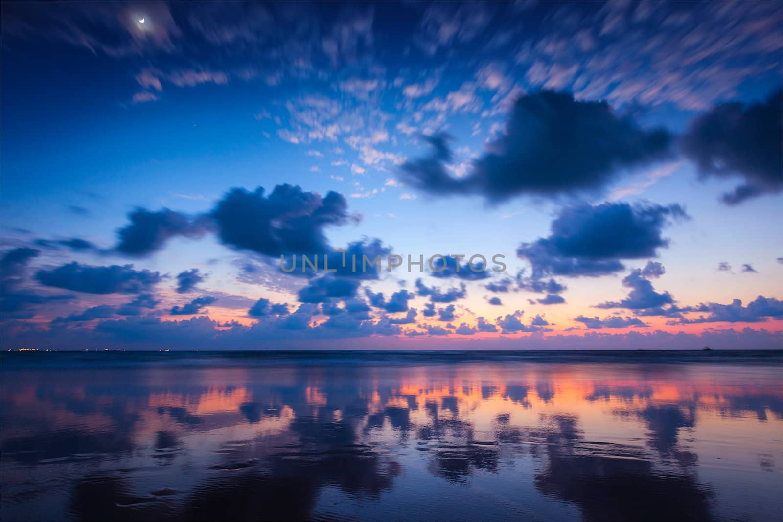
[[[152,212],[137,208],[128,214],[128,225],[117,231],[116,250],[128,256],[142,257],[164,247],[172,237],[199,238],[210,229],[203,216],[190,218],[186,214],[164,208]]]

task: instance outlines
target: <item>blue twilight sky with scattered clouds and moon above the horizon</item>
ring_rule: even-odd
[[[781,347],[779,2],[0,10],[3,349]]]

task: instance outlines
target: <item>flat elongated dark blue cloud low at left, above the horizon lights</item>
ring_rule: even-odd
[[[134,270],[133,265],[90,266],[76,261],[35,273],[38,282],[85,293],[141,293],[161,281],[158,272]]]

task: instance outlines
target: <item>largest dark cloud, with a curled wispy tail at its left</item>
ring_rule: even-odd
[[[496,201],[518,194],[599,193],[622,171],[667,157],[672,137],[660,128],[643,130],[608,103],[541,91],[517,100],[506,134],[463,178],[446,170],[452,160],[449,137],[429,141],[432,155],[403,165],[402,182],[431,193],[475,193]]]

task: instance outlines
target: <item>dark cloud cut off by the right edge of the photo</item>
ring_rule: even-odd
[[[764,103],[723,103],[691,121],[680,138],[703,178],[742,178],[723,194],[734,205],[783,189],[783,89]]]

